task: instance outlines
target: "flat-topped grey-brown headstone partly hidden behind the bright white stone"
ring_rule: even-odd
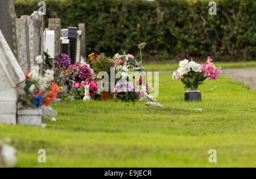
[[[61,33],[60,23],[61,23],[60,19],[49,18],[49,30],[55,31],[55,56],[60,54],[60,33]]]

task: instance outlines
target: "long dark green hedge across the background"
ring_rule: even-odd
[[[16,0],[16,14],[37,10],[38,0]],[[207,57],[255,60],[255,0],[218,0],[217,15],[209,1],[183,0],[45,0],[48,18],[62,28],[86,23],[90,52],[138,53],[133,43],[147,42],[146,53],[158,60]]]

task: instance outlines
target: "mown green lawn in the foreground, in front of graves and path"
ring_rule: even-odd
[[[0,139],[13,139],[18,167],[255,167],[256,91],[225,76],[200,91],[202,102],[184,102],[181,82],[162,73],[163,109],[145,102],[55,103],[57,122],[1,124]],[[46,163],[38,163],[39,149],[46,149]],[[209,163],[209,149],[216,149],[217,163]]]

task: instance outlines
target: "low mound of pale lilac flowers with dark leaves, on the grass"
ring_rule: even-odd
[[[124,102],[136,102],[141,97],[141,90],[132,82],[118,82],[112,92],[115,94],[115,99],[119,99]]]

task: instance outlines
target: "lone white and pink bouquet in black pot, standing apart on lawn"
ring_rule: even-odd
[[[208,57],[207,64],[197,64],[194,61],[183,60],[179,63],[179,68],[173,73],[172,78],[181,80],[185,88],[190,89],[185,93],[186,101],[201,101],[201,93],[197,91],[199,85],[208,78],[216,80],[221,75],[221,67],[217,68],[212,59]]]

